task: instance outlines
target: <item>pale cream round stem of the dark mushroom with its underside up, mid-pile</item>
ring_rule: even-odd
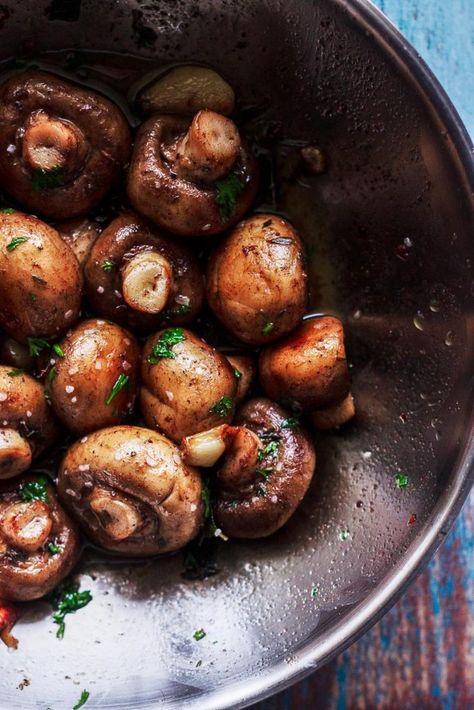
[[[159,252],[137,254],[122,270],[126,303],[142,313],[160,313],[173,290],[173,268]]]

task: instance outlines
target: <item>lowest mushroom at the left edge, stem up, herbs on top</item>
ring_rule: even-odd
[[[0,481],[0,598],[29,601],[48,594],[80,555],[74,523],[47,483],[46,502],[22,500],[21,489],[38,476]],[[52,552],[49,545],[58,551]]]

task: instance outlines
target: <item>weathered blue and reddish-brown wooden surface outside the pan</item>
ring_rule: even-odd
[[[474,0],[376,0],[474,134]],[[325,668],[255,710],[474,708],[474,492],[404,597]]]

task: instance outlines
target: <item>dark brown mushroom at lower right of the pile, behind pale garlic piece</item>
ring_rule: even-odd
[[[314,447],[301,428],[284,426],[288,417],[279,405],[264,398],[249,400],[237,412],[236,426],[253,436],[247,435],[248,443],[238,441],[237,450],[231,448],[217,470],[214,513],[226,535],[271,535],[293,515],[308,490],[316,461]],[[271,442],[273,447],[268,448]]]

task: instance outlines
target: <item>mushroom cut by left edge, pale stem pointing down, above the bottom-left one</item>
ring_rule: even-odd
[[[16,368],[0,365],[0,479],[26,471],[58,434],[43,386]]]

